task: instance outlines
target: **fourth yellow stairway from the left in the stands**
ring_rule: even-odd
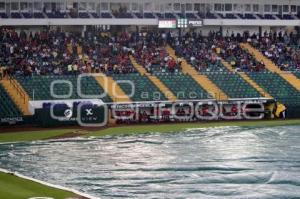
[[[175,60],[177,59],[175,50],[172,47],[167,46],[166,50],[172,58],[174,58]],[[228,99],[228,96],[217,85],[215,85],[206,75],[199,74],[198,71],[186,60],[182,61],[181,68],[183,73],[190,75],[201,87],[203,87],[208,93],[214,96],[215,99]]]

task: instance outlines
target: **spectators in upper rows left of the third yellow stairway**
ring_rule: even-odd
[[[0,30],[0,69],[4,75],[62,75],[135,72],[125,44],[127,34],[111,37],[86,32],[84,37],[62,31],[17,33]]]

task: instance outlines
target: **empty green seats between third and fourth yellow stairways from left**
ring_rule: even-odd
[[[157,73],[156,76],[179,100],[212,98],[191,76],[182,73]]]

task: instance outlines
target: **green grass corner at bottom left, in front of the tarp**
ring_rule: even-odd
[[[12,174],[0,172],[1,199],[28,199],[31,197],[49,197],[54,199],[78,198],[74,193],[50,188]]]

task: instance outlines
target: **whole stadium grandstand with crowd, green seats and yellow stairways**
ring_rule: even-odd
[[[0,0],[0,125],[299,118],[299,25],[298,0]]]

